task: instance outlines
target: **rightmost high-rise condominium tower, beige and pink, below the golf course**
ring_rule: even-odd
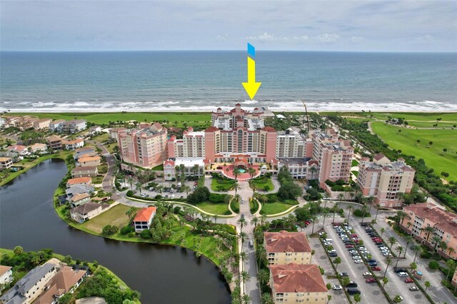
[[[357,183],[364,196],[373,196],[381,207],[401,207],[398,193],[410,193],[413,187],[414,173],[403,158],[391,162],[383,154],[361,158],[358,164]]]

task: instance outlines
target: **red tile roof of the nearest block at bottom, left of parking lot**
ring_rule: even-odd
[[[326,293],[321,271],[315,264],[270,265],[275,293]]]

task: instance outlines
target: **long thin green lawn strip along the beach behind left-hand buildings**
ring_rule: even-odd
[[[149,122],[154,121],[169,121],[174,123],[174,126],[182,127],[184,123],[189,126],[199,126],[207,124],[211,121],[211,113],[201,112],[184,112],[184,113],[14,113],[17,115],[31,115],[38,116],[38,118],[52,118],[52,119],[86,119],[91,123],[102,124],[109,123],[109,121],[131,121],[136,120],[143,122],[145,119]]]

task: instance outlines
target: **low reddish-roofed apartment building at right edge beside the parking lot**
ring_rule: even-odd
[[[444,211],[433,203],[418,203],[403,207],[406,218],[400,222],[400,226],[407,233],[413,235],[416,240],[435,248],[435,238],[440,239],[436,246],[438,253],[446,258],[457,258],[457,215]],[[425,229],[430,226],[433,232],[428,233]],[[446,248],[441,248],[441,242],[446,243]],[[451,249],[452,248],[452,249]]]

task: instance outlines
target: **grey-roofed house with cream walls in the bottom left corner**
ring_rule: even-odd
[[[46,284],[57,273],[56,265],[46,263],[37,266],[24,275],[0,298],[4,304],[29,304],[44,291]]]

